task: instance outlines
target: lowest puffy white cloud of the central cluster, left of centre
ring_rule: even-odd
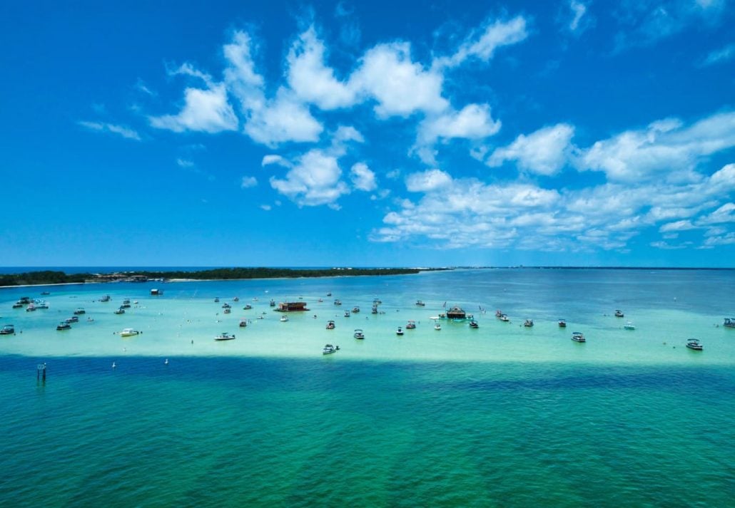
[[[337,157],[315,149],[301,156],[286,178],[271,177],[270,186],[298,206],[333,205],[350,192],[341,175]]]

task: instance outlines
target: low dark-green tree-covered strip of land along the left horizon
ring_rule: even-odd
[[[414,275],[445,268],[215,268],[196,271],[146,271],[112,273],[73,273],[42,270],[0,275],[0,287],[50,286],[55,284],[85,284],[107,282],[165,282],[169,280],[242,280],[299,277],[343,277],[358,275]]]

